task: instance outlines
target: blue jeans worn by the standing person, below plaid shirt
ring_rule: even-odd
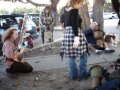
[[[69,57],[69,67],[70,67],[70,78],[76,79],[78,76],[80,78],[85,78],[88,76],[87,72],[87,53],[84,53],[80,56],[79,70],[75,62],[76,57]]]

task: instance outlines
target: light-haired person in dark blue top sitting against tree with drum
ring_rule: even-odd
[[[88,47],[93,50],[96,54],[101,54],[102,51],[106,53],[113,53],[115,50],[110,49],[103,39],[95,39],[94,30],[98,30],[98,24],[96,22],[91,23],[90,28],[84,31],[86,39],[88,41]],[[104,36],[104,32],[103,32]]]

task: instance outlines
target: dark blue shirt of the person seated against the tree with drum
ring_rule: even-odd
[[[90,44],[96,44],[96,39],[93,35],[93,30],[91,28],[84,31],[85,37]]]

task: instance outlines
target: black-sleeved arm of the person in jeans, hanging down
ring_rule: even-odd
[[[79,20],[79,14],[77,9],[73,9],[70,15],[70,23],[73,29],[73,33],[75,36],[78,36],[78,20]]]

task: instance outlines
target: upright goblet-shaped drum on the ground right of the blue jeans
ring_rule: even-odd
[[[100,65],[95,65],[90,68],[90,75],[92,78],[92,88],[97,88],[101,85],[103,77],[103,68]]]

